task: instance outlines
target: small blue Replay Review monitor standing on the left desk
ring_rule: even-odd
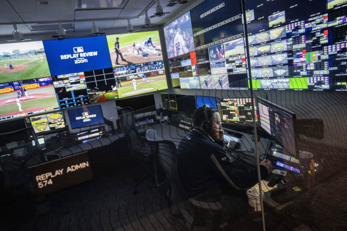
[[[71,129],[104,124],[104,115],[100,105],[80,107],[67,111]]]

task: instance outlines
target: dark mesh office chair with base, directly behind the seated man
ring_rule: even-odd
[[[218,211],[223,207],[219,202],[205,202],[188,198],[177,173],[177,150],[176,145],[171,140],[156,140],[154,155],[154,173],[159,190],[163,191],[175,215],[183,217],[185,226],[190,230],[194,225],[205,219],[199,218],[201,210],[214,213],[212,221],[216,220],[220,214]],[[203,212],[204,213],[204,212]]]

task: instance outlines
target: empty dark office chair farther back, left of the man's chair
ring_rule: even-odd
[[[137,194],[137,186],[140,185],[152,173],[153,153],[150,144],[145,137],[141,137],[135,127],[134,111],[131,107],[124,107],[118,110],[121,113],[119,126],[125,133],[125,139],[130,150],[130,156],[147,162],[146,174],[135,183],[133,194]]]

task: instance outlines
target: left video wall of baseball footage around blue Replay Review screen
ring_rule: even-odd
[[[0,121],[168,88],[158,31],[1,44],[0,64]]]

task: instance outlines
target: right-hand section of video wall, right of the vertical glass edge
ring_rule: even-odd
[[[346,0],[245,7],[254,89],[347,91]]]

